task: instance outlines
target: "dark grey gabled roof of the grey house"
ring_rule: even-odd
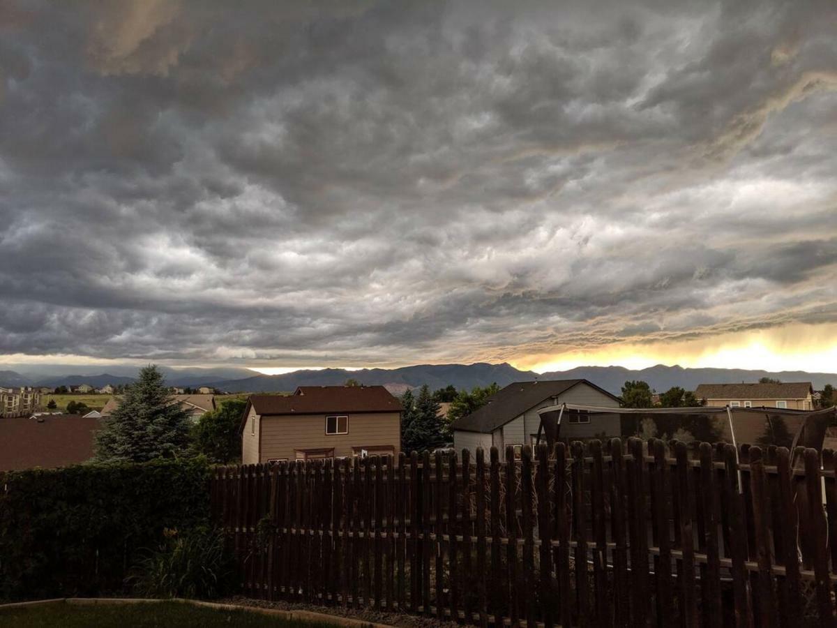
[[[599,388],[596,384],[586,379],[557,379],[552,381],[538,382],[516,382],[510,383],[506,388],[497,394],[491,395],[489,402],[482,408],[475,410],[468,416],[463,416],[453,423],[454,430],[465,430],[467,432],[481,432],[490,434],[498,427],[506,425],[511,420],[534,408],[546,399],[557,397],[566,393],[567,390],[585,383],[602,394],[608,395],[611,399],[619,401],[619,398],[608,393],[607,390]]]

